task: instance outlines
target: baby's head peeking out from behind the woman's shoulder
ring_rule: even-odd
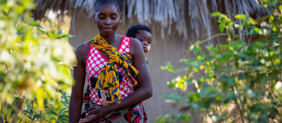
[[[126,32],[126,37],[139,40],[144,52],[149,52],[152,43],[152,28],[142,24],[131,25]]]

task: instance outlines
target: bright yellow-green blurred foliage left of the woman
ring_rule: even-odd
[[[35,7],[0,0],[0,122],[68,122],[70,35],[52,25],[46,31],[31,18]]]

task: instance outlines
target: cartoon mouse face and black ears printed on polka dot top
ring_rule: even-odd
[[[118,71],[118,78],[119,78],[119,82],[122,82],[123,76],[122,73],[120,73],[119,71]],[[90,77],[92,88],[95,88],[97,80],[98,80],[97,78]],[[98,98],[99,98],[99,102],[102,103],[103,106],[109,106],[116,102],[114,100],[111,100],[111,94],[107,90],[98,90]]]

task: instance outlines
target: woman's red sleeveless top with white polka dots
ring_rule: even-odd
[[[122,41],[120,43],[118,51],[129,54],[130,43],[131,38],[122,36]],[[91,89],[89,97],[93,101],[93,103],[101,106],[109,106],[114,103],[114,101],[110,99],[110,94],[108,93],[108,91],[94,89],[100,71],[108,61],[109,59],[105,58],[101,54],[100,50],[96,49],[92,45],[89,45],[85,68],[89,89]],[[123,67],[117,66],[117,71],[119,74],[122,74],[122,82],[120,80],[119,85],[121,98],[123,99],[131,94],[134,89],[129,76],[125,74]]]

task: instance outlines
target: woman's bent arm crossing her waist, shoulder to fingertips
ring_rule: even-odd
[[[136,39],[131,40],[130,55],[133,58],[133,66],[139,71],[138,75],[135,78],[138,83],[138,89],[135,90],[126,98],[122,99],[121,104],[115,103],[113,105],[107,107],[101,107],[89,112],[88,115],[91,114],[95,114],[95,115],[90,119],[82,122],[92,122],[94,120],[98,120],[104,115],[106,115],[107,113],[136,105],[150,98],[153,95],[151,74],[146,63],[144,50],[142,48],[141,43]]]

